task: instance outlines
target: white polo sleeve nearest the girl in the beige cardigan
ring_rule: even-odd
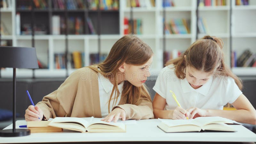
[[[153,90],[156,91],[164,99],[166,99],[167,81],[172,76],[172,73],[168,69],[168,67],[165,67],[160,71],[160,74],[156,79],[156,84],[153,87]]]

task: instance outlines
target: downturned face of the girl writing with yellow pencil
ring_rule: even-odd
[[[191,87],[193,87],[194,89],[198,89],[199,87],[204,85],[211,76],[211,73],[198,71],[190,66],[186,67],[186,79],[188,83],[191,85]]]

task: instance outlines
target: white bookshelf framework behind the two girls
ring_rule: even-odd
[[[9,8],[1,8],[1,20],[8,23],[7,29],[10,35],[1,35],[1,40],[7,40],[9,45],[28,46],[32,45],[31,35],[17,35],[16,31],[16,13],[20,13],[20,24],[30,23],[30,10],[21,9],[16,5],[15,0],[11,0],[12,5]],[[19,0],[22,1],[22,0]],[[26,1],[26,0],[25,0]],[[30,0],[28,0],[30,1]],[[185,51],[190,44],[196,40],[196,6],[197,0],[173,0],[175,6],[163,7],[163,0],[156,0],[155,5],[144,7],[127,6],[127,1],[119,0],[119,8],[117,10],[92,10],[84,9],[64,9],[56,8],[51,0],[45,0],[47,6],[44,9],[34,10],[35,24],[44,24],[46,34],[36,35],[35,47],[37,57],[48,68],[36,69],[35,77],[65,77],[66,71],[70,75],[75,68],[56,69],[55,57],[56,53],[65,52],[65,40],[68,40],[68,52],[79,51],[84,53],[84,65],[91,64],[90,55],[97,53],[108,53],[112,45],[120,37],[124,36],[124,18],[130,19],[131,12],[133,19],[140,19],[142,22],[140,37],[152,48],[154,52],[154,61],[152,64],[153,73],[159,72],[163,68],[164,51],[172,52]],[[82,0],[85,4],[87,0]],[[147,0],[146,0],[147,1]],[[150,0],[148,0],[150,2]],[[198,16],[205,19],[209,32],[207,34],[218,36],[224,42],[224,53],[226,63],[230,66],[231,51],[236,51],[237,55],[241,54],[246,48],[250,48],[256,53],[255,37],[256,37],[256,18],[251,13],[256,12],[256,2],[249,1],[249,5],[236,5],[235,0],[226,0],[227,4],[222,6],[199,6]],[[76,35],[69,32],[66,37],[61,33],[53,35],[52,16],[64,16],[65,12],[68,17],[81,17],[84,21],[81,33]],[[169,22],[172,19],[188,20],[188,28],[190,33],[186,34],[163,34],[164,18]],[[231,17],[230,17],[231,15]],[[27,17],[27,19],[24,17]],[[95,34],[92,34],[86,19],[90,18],[94,26]],[[232,26],[230,27],[230,18]],[[101,25],[98,25],[100,19]],[[70,25],[69,25],[70,26]],[[100,29],[99,29],[100,28]],[[231,29],[231,31],[230,31]],[[100,31],[100,34],[98,32]],[[204,33],[198,33],[198,38],[203,37]],[[232,37],[232,39],[230,39]],[[231,40],[231,41],[230,41]],[[165,41],[165,47],[164,47]],[[230,48],[230,42],[232,48]],[[99,48],[100,46],[100,48]],[[255,76],[256,68],[232,68],[233,72],[239,76]],[[17,77],[32,77],[32,70],[17,69]],[[2,77],[12,77],[12,70],[8,68],[1,70]]]

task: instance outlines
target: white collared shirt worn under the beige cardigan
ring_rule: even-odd
[[[100,94],[100,110],[101,110],[101,116],[102,118],[104,118],[108,115],[108,101],[114,85],[108,80],[108,78],[101,75],[100,73],[98,74],[99,74],[98,82],[99,82],[99,94]],[[121,98],[122,91],[123,91],[123,86],[124,86],[124,81],[118,84],[117,87],[120,94],[118,96],[118,99],[115,101],[114,101],[114,97],[115,97],[115,91],[114,91],[112,99],[110,101],[110,107],[109,107],[110,111],[114,106],[118,105]],[[114,102],[114,105],[113,105],[113,102]]]

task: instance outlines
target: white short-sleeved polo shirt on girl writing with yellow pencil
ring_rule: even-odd
[[[186,78],[180,79],[176,76],[173,65],[161,70],[153,90],[166,99],[167,110],[173,110],[178,106],[170,90],[175,93],[184,109],[223,109],[224,105],[233,103],[242,94],[235,80],[229,76],[212,76],[200,88],[194,89]]]

